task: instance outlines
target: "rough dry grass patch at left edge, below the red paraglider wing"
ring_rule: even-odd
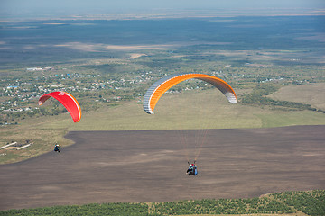
[[[7,143],[17,142],[25,144],[26,140],[32,142],[32,146],[16,150],[16,148],[0,149],[0,164],[14,163],[30,157],[42,155],[54,148],[55,143],[61,146],[72,144],[63,136],[73,122],[68,114],[55,117],[43,117],[22,121],[20,125],[3,127],[0,130],[0,146]],[[51,126],[52,125],[52,126]],[[54,126],[57,125],[55,128]],[[60,125],[60,126],[59,126]]]

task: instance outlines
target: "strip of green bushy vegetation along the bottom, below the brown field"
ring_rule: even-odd
[[[324,215],[325,191],[270,193],[251,199],[93,203],[0,211],[0,215]]]

